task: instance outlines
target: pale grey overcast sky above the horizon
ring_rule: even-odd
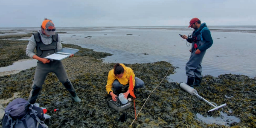
[[[0,0],[0,27],[256,25],[256,0]]]

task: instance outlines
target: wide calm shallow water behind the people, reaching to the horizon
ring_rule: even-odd
[[[154,29],[151,29],[154,28]],[[175,28],[175,30],[170,30]],[[236,30],[237,32],[211,32],[213,45],[207,49],[202,67],[203,75],[218,76],[232,73],[254,77],[256,73],[256,34],[242,33],[255,26],[213,26],[212,29]],[[211,29],[209,27],[209,29]],[[17,33],[37,31],[37,28],[0,29],[2,32]],[[179,67],[170,75],[170,81],[186,81],[185,64],[189,59],[191,46],[178,34],[188,35],[193,29],[184,26],[162,27],[79,27],[60,28],[57,32],[62,43],[76,44],[94,51],[108,52],[112,56],[104,58],[106,63],[153,63],[167,61]],[[16,33],[16,34],[17,34]],[[6,33],[14,34],[14,33]],[[132,34],[132,35],[127,35]],[[91,36],[91,37],[89,37]]]

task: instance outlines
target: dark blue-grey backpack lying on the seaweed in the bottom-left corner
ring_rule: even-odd
[[[43,119],[44,112],[41,108],[17,98],[5,108],[2,128],[48,128]]]

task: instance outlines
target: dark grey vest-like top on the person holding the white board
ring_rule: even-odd
[[[58,42],[58,33],[52,36],[52,43],[45,45],[41,40],[41,35],[39,32],[33,33],[36,41],[36,51],[37,56],[44,58],[48,55],[52,55],[57,52],[57,42]]]

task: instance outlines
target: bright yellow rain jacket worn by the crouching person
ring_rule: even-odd
[[[115,74],[114,74],[114,70],[110,70],[108,72],[108,82],[107,82],[107,85],[106,85],[106,90],[107,90],[108,94],[111,91],[113,92],[112,84],[113,84],[113,81],[116,80],[116,79],[119,81],[120,84],[126,85],[126,84],[129,84],[130,76],[132,76],[132,84],[135,87],[135,79],[134,79],[135,75],[134,75],[133,70],[130,67],[125,67],[124,64],[120,64],[120,65],[124,68],[124,74],[123,74],[122,78],[116,77]]]

